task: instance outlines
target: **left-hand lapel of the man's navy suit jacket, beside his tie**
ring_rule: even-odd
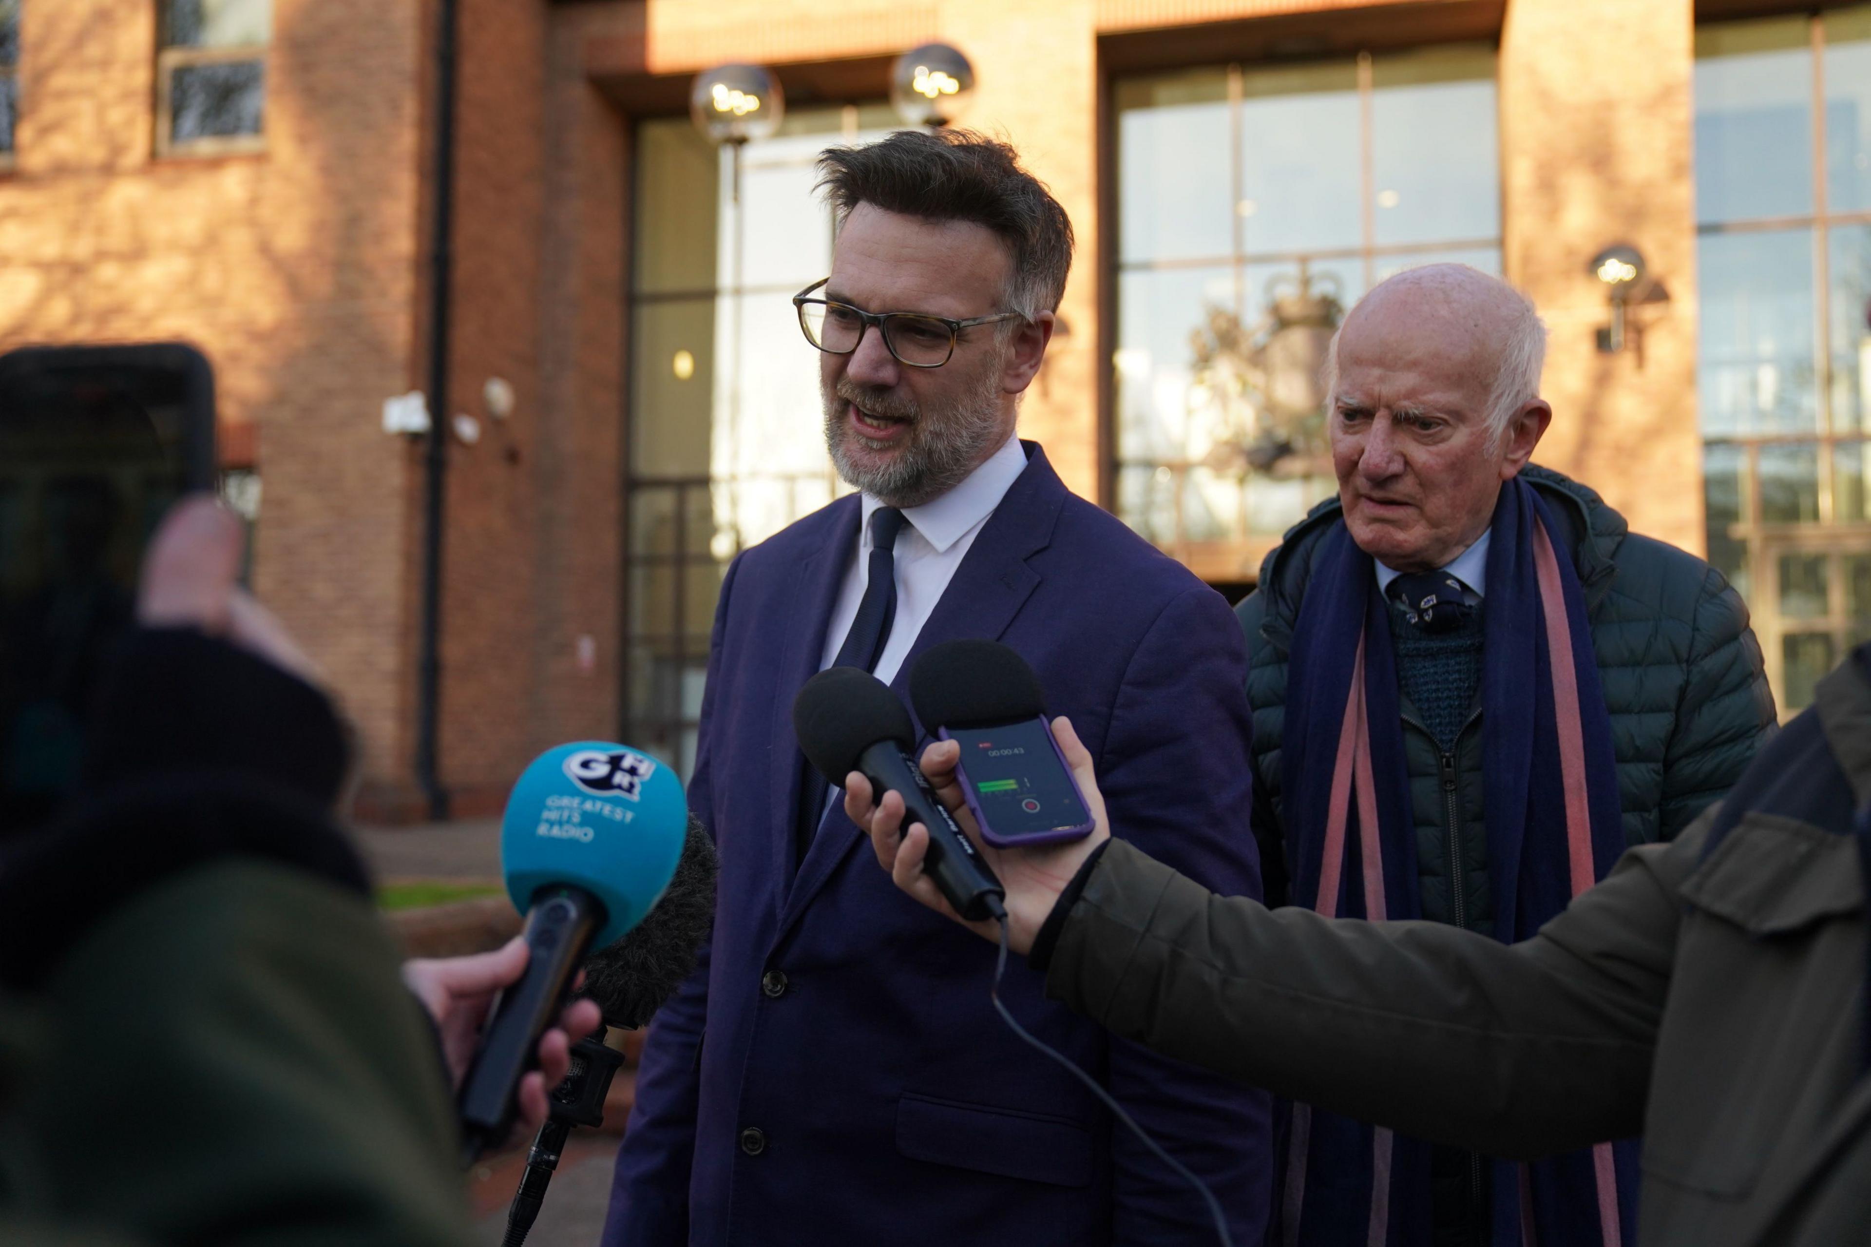
[[[799,783],[803,758],[799,738],[793,736],[793,698],[818,674],[825,655],[825,629],[838,597],[851,550],[857,549],[857,524],[863,504],[851,494],[838,504],[833,535],[801,560],[786,610],[776,624],[786,629],[778,648],[778,676],[773,682],[773,732],[767,790],[773,794],[767,844],[773,852],[773,878],[780,904],[793,884],[793,820],[799,816]]]

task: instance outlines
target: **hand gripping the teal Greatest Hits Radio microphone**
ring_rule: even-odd
[[[526,959],[526,940],[513,936],[492,953],[402,962],[402,981],[436,1020],[451,1086],[458,1088],[468,1073],[494,994],[520,981]],[[565,1005],[559,1024],[539,1037],[539,1069],[520,1078],[518,1092],[520,1120],[528,1131],[546,1123],[546,1095],[571,1069],[571,1045],[597,1030],[602,1020],[595,1002],[574,1000]]]

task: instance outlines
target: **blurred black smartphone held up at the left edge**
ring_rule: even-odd
[[[0,835],[77,790],[144,547],[170,504],[213,487],[213,373],[193,346],[0,356]]]

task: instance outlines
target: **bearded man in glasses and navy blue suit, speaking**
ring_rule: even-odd
[[[1072,228],[1012,148],[906,131],[821,172],[842,228],[795,303],[861,494],[722,582],[689,786],[720,846],[715,934],[649,1030],[604,1245],[1211,1243],[1197,1193],[994,1015],[992,953],[866,861],[791,704],[825,667],[902,693],[928,646],[1001,640],[1096,758],[1113,826],[1257,897],[1240,629],[1014,436]],[[1025,966],[1003,998],[1259,1241],[1265,1095],[1106,1037]]]

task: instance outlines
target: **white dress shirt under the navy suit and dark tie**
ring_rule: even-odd
[[[994,507],[1027,468],[1027,453],[1020,447],[1020,436],[1008,436],[1001,449],[964,477],[934,502],[919,507],[904,507],[909,521],[896,534],[896,616],[891,620],[891,638],[883,644],[883,655],[872,672],[883,683],[896,678],[896,668],[904,665],[909,646],[917,642],[917,633],[936,610],[954,569],[967,556],[967,547],[975,545],[977,534],[986,526]],[[864,601],[864,582],[870,577],[870,519],[883,504],[864,494],[864,519],[857,530],[857,554],[844,571],[844,584],[838,588],[838,601],[831,609],[831,625],[825,629],[825,653],[819,655],[819,670],[831,667],[844,646],[844,635],[851,631],[857,618],[857,605]]]

